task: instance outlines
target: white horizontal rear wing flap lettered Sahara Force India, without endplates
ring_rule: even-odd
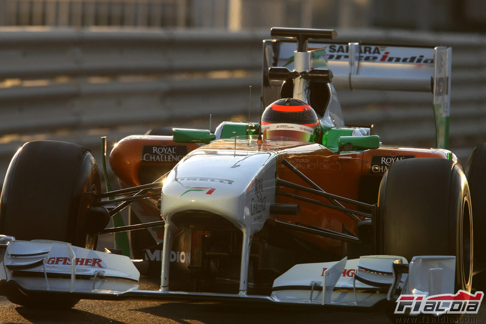
[[[295,49],[282,41],[277,66],[293,70]],[[432,92],[434,48],[309,42],[309,49],[311,68],[331,70],[336,89]]]

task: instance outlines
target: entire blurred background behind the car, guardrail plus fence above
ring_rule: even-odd
[[[90,149],[153,127],[259,120],[272,26],[339,42],[452,46],[450,147],[486,141],[485,0],[0,0],[1,173],[24,142]],[[338,90],[345,122],[384,144],[434,147],[429,93]],[[6,164],[6,165],[5,165]],[[1,164],[0,164],[1,165]]]

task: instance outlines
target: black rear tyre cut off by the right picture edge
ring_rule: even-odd
[[[486,143],[474,148],[466,169],[473,207],[474,260],[486,262]]]

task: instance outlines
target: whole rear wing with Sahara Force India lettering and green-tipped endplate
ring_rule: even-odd
[[[296,41],[264,40],[263,100],[279,99],[281,83],[270,81],[272,66],[294,69]],[[311,68],[328,68],[336,89],[418,91],[433,94],[437,147],[449,147],[451,47],[409,47],[309,42]]]

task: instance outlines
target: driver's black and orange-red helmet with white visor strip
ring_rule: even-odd
[[[293,98],[270,104],[262,115],[262,133],[266,140],[319,142],[321,122],[311,106]]]

